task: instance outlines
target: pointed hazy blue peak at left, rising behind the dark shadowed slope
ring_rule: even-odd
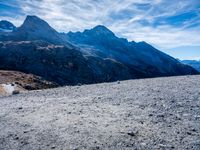
[[[1,41],[30,41],[44,40],[52,44],[65,45],[74,48],[59,32],[53,29],[46,21],[37,16],[28,15],[23,24],[6,36],[0,36]]]

